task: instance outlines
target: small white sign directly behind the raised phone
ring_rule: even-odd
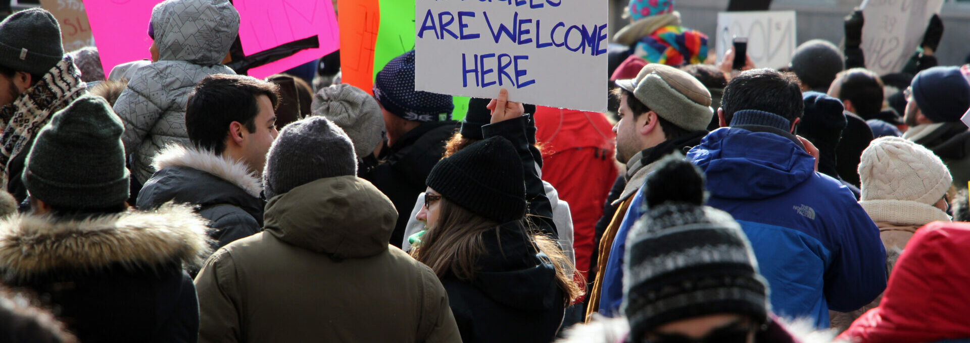
[[[722,12],[718,14],[718,60],[734,37],[748,39],[748,56],[759,68],[786,67],[795,46],[794,11]]]

